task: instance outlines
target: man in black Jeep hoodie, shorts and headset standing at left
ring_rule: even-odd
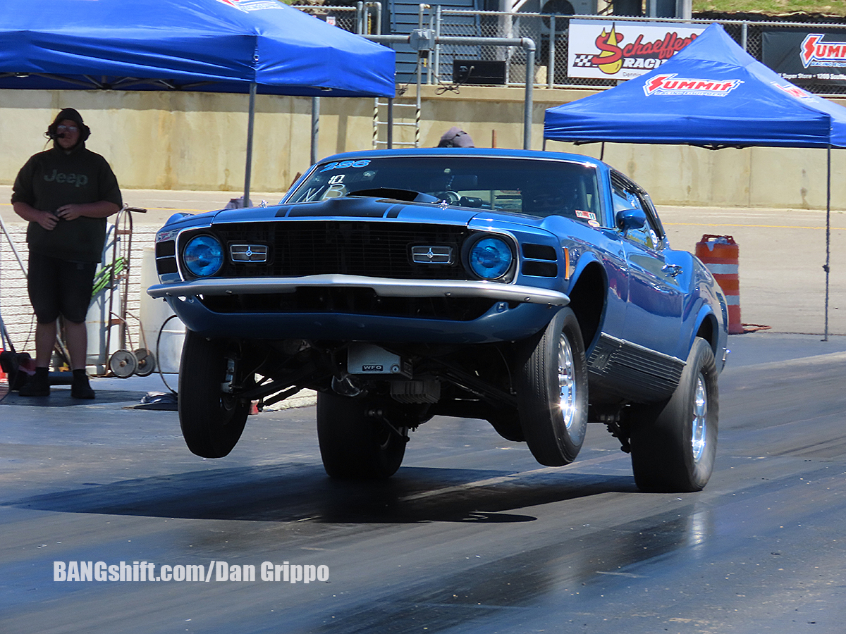
[[[52,149],[26,161],[12,191],[15,213],[30,222],[27,289],[37,320],[36,374],[19,394],[50,394],[48,370],[61,314],[74,371],[71,396],[94,398],[85,373],[85,315],[106,242],[106,218],[123,200],[106,159],[85,149],[91,130],[79,112],[64,108],[45,134],[53,139]]]

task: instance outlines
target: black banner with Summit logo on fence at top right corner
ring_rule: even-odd
[[[846,30],[767,29],[761,61],[794,84],[846,85]]]

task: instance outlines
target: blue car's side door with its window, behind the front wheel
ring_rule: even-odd
[[[646,224],[623,234],[629,267],[629,305],[624,339],[658,353],[674,356],[682,324],[684,280],[691,271],[674,258],[649,196],[619,172],[612,173],[615,213],[643,210]]]

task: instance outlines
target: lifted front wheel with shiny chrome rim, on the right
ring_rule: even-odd
[[[524,350],[516,374],[520,424],[537,462],[573,462],[587,430],[585,343],[572,309],[558,311]]]

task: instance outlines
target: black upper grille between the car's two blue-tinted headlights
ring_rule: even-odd
[[[297,277],[325,274],[398,279],[468,279],[460,265],[466,227],[361,221],[231,223],[211,227],[222,242],[266,244],[265,263],[227,260],[227,277]],[[448,263],[415,263],[414,247],[451,247]]]

